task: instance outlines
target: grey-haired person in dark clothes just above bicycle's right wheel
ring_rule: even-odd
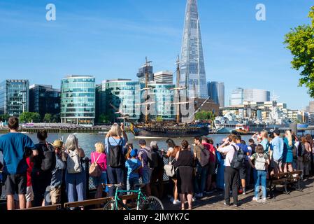
[[[164,196],[164,159],[162,157],[162,151],[159,151],[157,141],[150,143],[152,152],[157,155],[157,165],[152,170],[152,176],[150,178],[150,188],[152,189],[152,195],[162,199]]]

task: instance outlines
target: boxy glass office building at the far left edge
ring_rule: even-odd
[[[0,114],[19,117],[29,111],[29,80],[4,80],[0,84]]]

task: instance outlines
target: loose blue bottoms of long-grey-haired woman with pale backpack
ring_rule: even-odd
[[[69,202],[81,202],[85,200],[86,193],[85,172],[69,174],[66,172],[66,194]]]

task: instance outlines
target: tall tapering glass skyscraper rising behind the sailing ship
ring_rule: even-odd
[[[190,97],[208,98],[197,0],[187,0],[180,62],[180,86],[187,86]]]

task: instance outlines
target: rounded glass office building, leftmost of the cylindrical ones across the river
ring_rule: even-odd
[[[68,76],[61,81],[61,122],[94,125],[95,78]]]

